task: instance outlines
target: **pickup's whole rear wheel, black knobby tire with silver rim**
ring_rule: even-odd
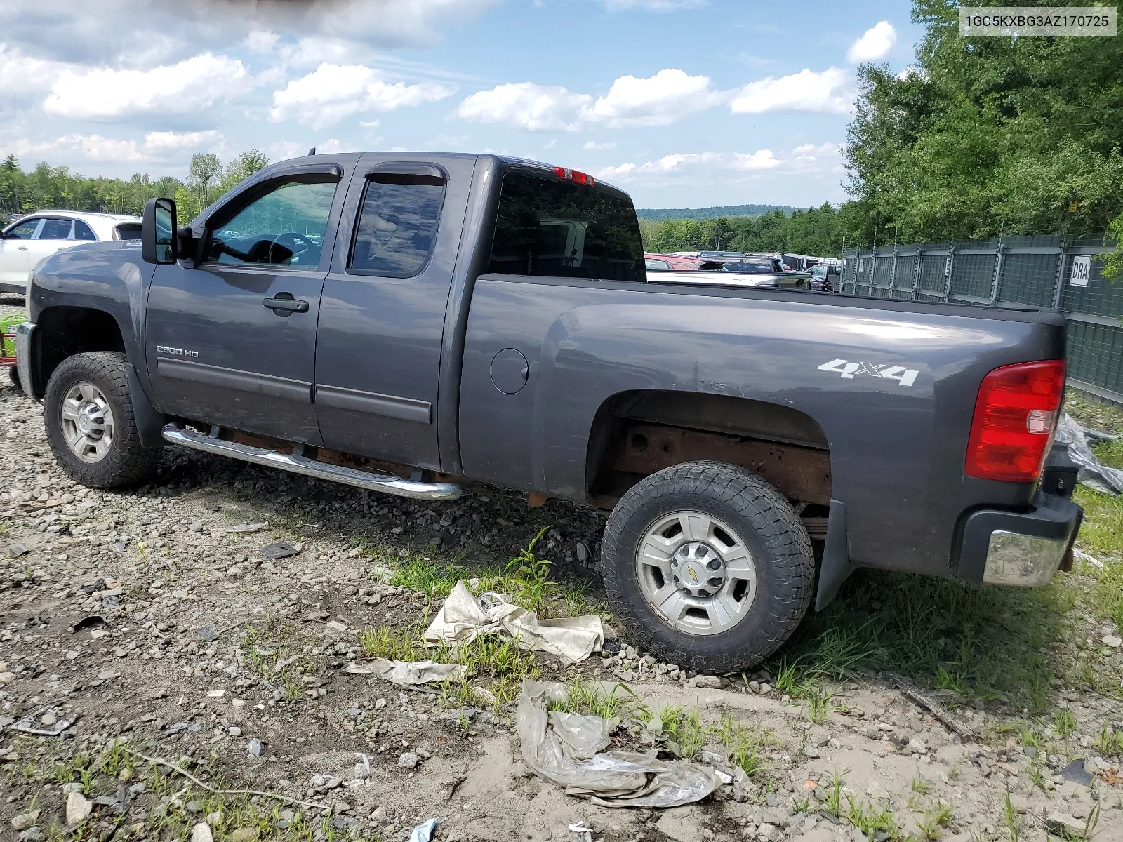
[[[807,612],[815,574],[788,502],[715,461],[632,486],[609,516],[601,562],[612,610],[643,649],[715,674],[779,649]]]

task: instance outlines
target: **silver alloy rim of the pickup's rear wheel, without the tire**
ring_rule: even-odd
[[[720,634],[756,598],[757,567],[740,534],[703,512],[654,521],[636,550],[640,592],[665,623],[688,634]]]

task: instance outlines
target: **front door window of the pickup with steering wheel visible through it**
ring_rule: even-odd
[[[277,182],[211,232],[208,259],[236,265],[320,265],[337,179]]]

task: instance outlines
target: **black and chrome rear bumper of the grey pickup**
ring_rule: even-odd
[[[1029,511],[980,509],[967,515],[959,578],[988,585],[1048,585],[1076,540],[1084,510],[1039,492]]]

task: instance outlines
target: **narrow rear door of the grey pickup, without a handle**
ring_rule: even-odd
[[[323,285],[326,447],[438,469],[441,338],[475,156],[378,153],[355,172]]]

